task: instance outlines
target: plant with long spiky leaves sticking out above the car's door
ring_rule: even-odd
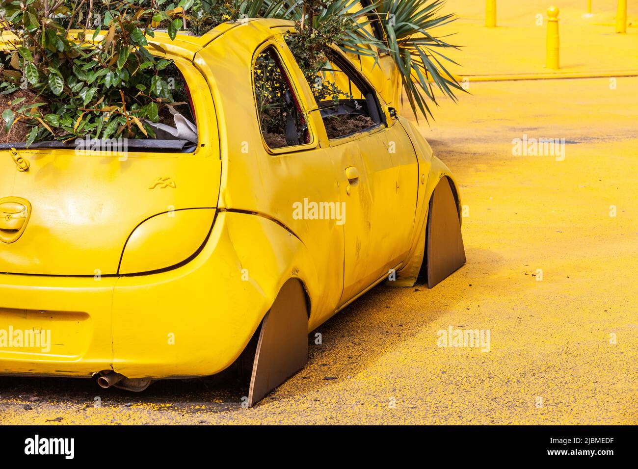
[[[274,1],[257,1],[271,7]],[[332,17],[355,19],[339,45],[346,52],[364,56],[390,54],[401,77],[403,89],[415,116],[426,120],[432,116],[429,102],[436,104],[435,88],[456,101],[454,90],[464,91],[447,70],[445,62],[454,63],[440,50],[458,48],[436,37],[436,27],[454,21],[454,15],[441,15],[444,0],[337,0],[327,3],[318,13],[308,7],[308,1],[290,0],[283,8],[269,10],[271,16],[301,22],[309,19],[311,26],[324,25]],[[313,14],[315,13],[315,14]],[[384,38],[368,33],[375,22],[382,26]],[[374,47],[370,47],[374,46]]]

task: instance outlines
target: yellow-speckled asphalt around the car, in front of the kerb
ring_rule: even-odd
[[[469,210],[454,276],[375,288],[255,408],[202,380],[130,394],[1,378],[0,424],[637,424],[638,78],[470,91],[422,125]],[[524,134],[565,138],[565,160],[513,156]],[[450,325],[489,329],[491,350],[438,347]]]

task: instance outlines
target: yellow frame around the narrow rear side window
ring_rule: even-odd
[[[308,142],[307,144],[288,145],[288,146],[280,147],[280,148],[271,148],[266,143],[266,140],[263,137],[262,122],[259,115],[259,109],[257,107],[257,96],[255,93],[255,66],[256,66],[257,58],[269,47],[272,47],[274,54],[276,54],[279,59],[279,67],[281,68],[281,72],[285,73],[286,76],[288,77],[288,82],[290,83],[290,87],[292,88],[290,91],[292,92],[295,100],[297,101],[297,105],[299,105],[301,114],[304,120],[306,121],[306,126],[308,126],[308,135],[310,137],[310,142]],[[311,119],[308,108],[304,105],[304,101],[301,99],[301,94],[299,92],[299,84],[297,84],[297,82],[295,81],[294,75],[290,73],[288,66],[286,66],[286,63],[283,58],[283,54],[281,54],[281,52],[279,52],[278,50],[279,47],[280,47],[279,44],[274,40],[274,38],[269,38],[269,40],[264,41],[263,43],[259,45],[259,47],[255,49],[255,52],[253,53],[253,57],[251,59],[250,75],[251,75],[251,87],[252,87],[252,94],[253,94],[253,105],[255,107],[255,119],[257,119],[257,125],[259,128],[260,137],[262,139],[262,144],[263,144],[263,147],[266,149],[266,151],[273,155],[297,153],[299,151],[313,150],[317,147],[318,140],[319,140],[316,135],[315,126],[313,125],[313,121]]]

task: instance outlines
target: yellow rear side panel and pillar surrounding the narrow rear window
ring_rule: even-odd
[[[285,226],[290,236],[299,238],[308,253],[302,265],[306,277],[299,276],[311,299],[312,329],[334,313],[343,290],[343,229],[335,220],[296,219],[293,204],[302,203],[304,198],[338,203],[339,188],[333,161],[321,147],[320,128],[313,120],[320,118],[318,113],[307,116],[313,149],[274,154],[265,147],[253,95],[252,64],[256,50],[275,33],[259,23],[248,22],[227,31],[195,59],[200,70],[207,70],[204,74],[219,121],[222,174],[218,207],[251,212],[252,216]],[[283,47],[274,40],[273,45],[308,109],[306,92],[297,89],[299,69]],[[277,249],[278,241],[273,242]],[[263,249],[271,246],[264,245]]]

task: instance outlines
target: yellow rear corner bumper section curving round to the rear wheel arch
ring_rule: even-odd
[[[320,285],[299,238],[258,214],[221,211],[200,255],[188,264],[118,279],[112,368],[128,378],[223,371],[290,278],[304,285],[312,316]]]

